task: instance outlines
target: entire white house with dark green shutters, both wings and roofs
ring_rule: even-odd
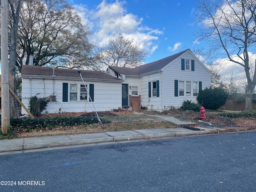
[[[84,82],[78,71],[23,65],[23,104],[28,107],[28,98],[38,94],[51,96],[46,107],[49,113],[132,108],[135,102],[165,110],[180,107],[184,100],[196,102],[199,90],[211,85],[212,76],[189,49],[136,68],[81,70]],[[26,113],[22,108],[22,114]]]

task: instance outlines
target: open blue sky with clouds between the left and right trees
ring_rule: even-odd
[[[191,0],[69,0],[92,39],[107,42],[113,33],[124,33],[140,42],[148,52],[145,63],[170,56],[184,49],[202,47],[193,32],[194,6]]]

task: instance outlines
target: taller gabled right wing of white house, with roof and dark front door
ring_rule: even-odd
[[[122,106],[132,107],[136,101],[152,110],[197,102],[199,90],[211,85],[212,76],[189,49],[136,68],[110,66],[107,72],[124,80]]]

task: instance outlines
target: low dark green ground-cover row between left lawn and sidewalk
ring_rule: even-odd
[[[109,121],[102,120],[102,123],[110,123]],[[98,123],[96,117],[53,117],[53,118],[22,118],[10,119],[10,125],[24,129],[34,128],[48,128],[53,129],[56,126],[75,126],[81,124],[95,124]]]

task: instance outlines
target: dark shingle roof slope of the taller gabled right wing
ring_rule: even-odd
[[[160,60],[148,63],[148,64],[144,64],[142,66],[138,66],[136,68],[113,67],[113,66],[110,66],[109,68],[118,72],[119,74],[140,75],[140,74],[144,74],[144,73],[148,73],[148,72],[152,72],[152,71],[156,71],[156,70],[161,70],[164,66],[166,66],[167,64],[169,64],[170,62],[172,62],[173,60],[175,60],[176,58],[181,56],[187,50],[184,50],[177,54],[168,56],[166,58],[163,58],[163,59],[160,59]]]

